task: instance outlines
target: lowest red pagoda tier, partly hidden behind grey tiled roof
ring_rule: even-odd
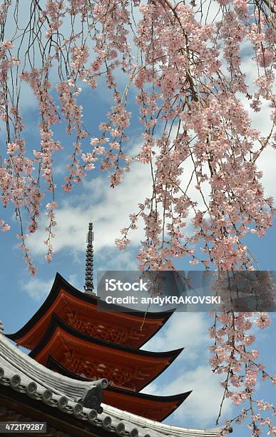
[[[75,375],[58,363],[53,356],[48,356],[46,367],[69,378],[80,381],[91,381],[88,378]],[[174,396],[153,396],[146,393],[133,393],[122,388],[108,386],[103,391],[103,402],[120,408],[123,411],[143,416],[153,421],[163,421],[192,393],[180,393]]]

